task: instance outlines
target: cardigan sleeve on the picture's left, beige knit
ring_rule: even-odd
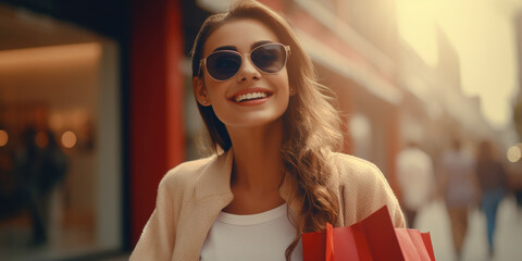
[[[130,261],[171,260],[174,249],[176,226],[173,197],[169,187],[169,175],[160,182],[156,209],[136,245]]]

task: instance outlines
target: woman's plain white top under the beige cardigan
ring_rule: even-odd
[[[204,240],[202,261],[285,260],[285,250],[296,236],[287,217],[287,204],[251,215],[221,212]],[[302,260],[302,245],[291,260]]]

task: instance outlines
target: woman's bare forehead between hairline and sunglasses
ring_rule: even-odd
[[[248,52],[256,42],[278,42],[275,33],[258,20],[243,18],[226,22],[207,38],[204,54],[223,46],[235,47],[239,52]]]

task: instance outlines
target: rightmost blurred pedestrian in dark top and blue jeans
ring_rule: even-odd
[[[495,159],[493,145],[487,140],[478,146],[475,172],[482,192],[481,207],[486,215],[489,256],[493,256],[497,210],[507,191],[507,173]]]

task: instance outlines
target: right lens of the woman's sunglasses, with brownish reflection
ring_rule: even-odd
[[[265,73],[277,73],[286,62],[286,50],[282,45],[265,45],[252,50],[252,63]]]

